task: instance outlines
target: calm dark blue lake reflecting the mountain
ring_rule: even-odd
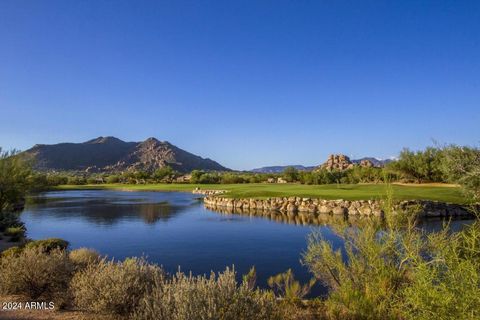
[[[143,255],[169,272],[209,274],[234,265],[243,274],[255,266],[262,287],[288,268],[310,279],[300,260],[311,232],[341,246],[328,226],[220,214],[205,209],[198,195],[182,192],[47,192],[28,199],[22,220],[32,239],[58,237],[72,249],[94,248],[115,259]],[[435,229],[441,222],[426,225]],[[317,285],[312,294],[324,292]]]

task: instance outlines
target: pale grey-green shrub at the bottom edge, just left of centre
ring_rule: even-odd
[[[227,269],[218,276],[178,272],[171,278],[157,278],[134,319],[262,320],[279,319],[279,313],[271,293],[252,289],[248,281],[237,284],[235,272]]]

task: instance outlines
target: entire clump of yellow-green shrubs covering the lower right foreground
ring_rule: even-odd
[[[385,223],[369,220],[360,228],[339,227],[343,250],[319,235],[310,237],[304,262],[330,288],[327,315],[478,319],[480,222],[460,232],[445,226],[426,233],[416,227],[411,213],[385,212]]]

